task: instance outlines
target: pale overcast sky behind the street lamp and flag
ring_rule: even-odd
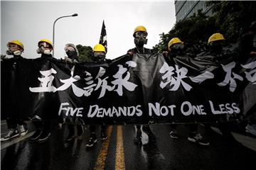
[[[107,58],[114,59],[134,47],[136,26],[145,26],[151,48],[160,33],[168,33],[176,22],[174,1],[1,1],[1,55],[6,43],[20,40],[23,57],[40,57],[36,53],[41,39],[53,40],[55,23],[55,57],[65,56],[67,43],[94,47],[99,42],[102,21],[107,30]]]

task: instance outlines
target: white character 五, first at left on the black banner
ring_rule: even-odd
[[[29,87],[29,90],[35,93],[51,91],[55,92],[56,88],[53,86],[54,76],[52,74],[56,74],[56,70],[52,68],[46,71],[40,71],[40,73],[43,75],[43,78],[38,77],[38,80],[41,81],[41,86]]]

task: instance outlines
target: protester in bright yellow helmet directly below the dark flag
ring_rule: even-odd
[[[95,63],[109,63],[110,60],[106,59],[106,50],[105,47],[101,44],[95,45],[92,50],[93,53],[93,62]],[[96,125],[90,125],[90,139],[86,144],[86,147],[93,147],[97,142],[97,135],[96,135]],[[107,125],[101,125],[101,132],[100,132],[100,140],[107,140],[106,135]]]

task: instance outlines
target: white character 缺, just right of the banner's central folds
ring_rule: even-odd
[[[164,83],[164,81],[161,81],[160,83],[160,87],[161,89],[164,89],[164,87],[167,84],[170,84],[170,86],[172,86],[171,89],[169,89],[169,91],[176,91],[178,90],[178,87],[182,86],[184,87],[184,89],[186,89],[186,91],[190,91],[192,89],[192,87],[189,84],[186,84],[182,79],[186,78],[186,74],[188,73],[188,69],[186,69],[185,67],[181,67],[181,69],[178,69],[178,66],[175,65],[176,68],[176,74],[177,77],[173,77],[174,74],[174,67],[169,67],[169,65],[164,62],[163,66],[161,67],[161,69],[159,70],[159,72],[161,74],[164,74],[164,76],[162,76],[162,79],[166,79],[166,82]]]

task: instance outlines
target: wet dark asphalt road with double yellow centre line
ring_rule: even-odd
[[[1,169],[235,170],[255,167],[255,150],[227,141],[223,135],[201,125],[199,132],[210,141],[209,146],[189,142],[185,125],[178,125],[176,140],[169,135],[169,125],[151,125],[151,131],[149,135],[142,134],[143,145],[138,146],[133,142],[133,125],[110,125],[108,139],[103,142],[98,139],[94,147],[87,148],[86,126],[82,138],[65,142],[68,129],[58,130],[53,125],[46,142],[29,141],[33,132],[15,141],[1,142]],[[99,137],[100,128],[97,134]]]

